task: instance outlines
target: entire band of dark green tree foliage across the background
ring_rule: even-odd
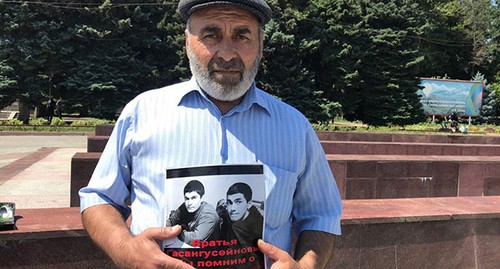
[[[500,83],[500,13],[489,2],[269,0],[257,83],[311,121],[422,121],[419,77],[480,71],[489,89]],[[19,100],[26,114],[52,95],[66,112],[114,118],[140,92],[188,79],[176,6],[0,1],[0,105]]]

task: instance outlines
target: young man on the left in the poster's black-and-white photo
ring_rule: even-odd
[[[198,180],[184,187],[184,203],[167,219],[167,226],[181,225],[179,240],[192,245],[193,240],[213,240],[219,234],[219,215],[215,208],[203,201],[205,187]]]

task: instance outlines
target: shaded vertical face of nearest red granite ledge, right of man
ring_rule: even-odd
[[[327,268],[498,268],[500,219],[344,225]]]

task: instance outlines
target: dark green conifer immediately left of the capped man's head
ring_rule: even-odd
[[[174,70],[181,46],[171,42],[182,34],[181,25],[160,27],[166,17],[176,18],[174,4],[120,2],[81,10],[84,19],[73,25],[75,53],[61,94],[81,114],[115,118],[138,93],[181,77]]]

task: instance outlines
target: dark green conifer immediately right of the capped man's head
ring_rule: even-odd
[[[259,85],[300,110],[311,121],[328,120],[321,107],[328,103],[316,85],[315,73],[305,63],[318,41],[308,37],[307,1],[269,1],[274,18],[265,28],[264,58]],[[293,57],[291,57],[293,56]]]

